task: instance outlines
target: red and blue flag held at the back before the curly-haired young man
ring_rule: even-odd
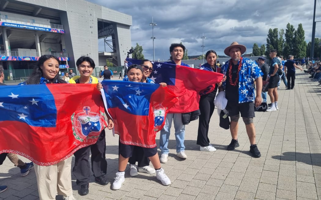
[[[142,60],[126,59],[133,64],[141,64]],[[167,87],[178,96],[178,102],[171,113],[188,113],[199,109],[199,93],[208,86],[220,83],[223,74],[195,68],[152,62],[153,71],[149,77],[155,83],[166,83]]]

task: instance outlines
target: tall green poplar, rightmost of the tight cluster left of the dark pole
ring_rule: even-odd
[[[307,42],[304,39],[304,30],[302,24],[300,23],[297,30],[294,32],[293,38],[293,55],[295,58],[303,58],[306,56]]]

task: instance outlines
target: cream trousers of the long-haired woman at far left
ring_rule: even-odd
[[[34,164],[40,200],[55,200],[56,195],[71,196],[72,156],[53,165]]]

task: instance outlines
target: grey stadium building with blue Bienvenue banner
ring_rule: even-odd
[[[131,48],[131,25],[131,16],[84,0],[1,0],[5,82],[25,80],[44,54],[61,60],[61,72],[75,69],[80,56],[90,56],[96,67],[106,60],[121,66]],[[98,39],[107,44],[104,52]]]

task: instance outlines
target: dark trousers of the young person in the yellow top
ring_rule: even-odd
[[[106,161],[106,139],[105,130],[103,130],[97,142],[88,147],[78,149],[75,153],[75,166],[73,168],[74,176],[76,177],[77,185],[89,183],[90,165],[89,155],[91,151],[91,171],[95,177],[100,177],[107,173]]]

